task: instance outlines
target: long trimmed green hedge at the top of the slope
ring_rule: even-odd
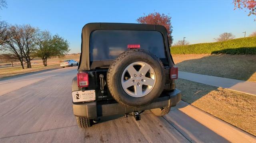
[[[232,39],[224,42],[172,46],[172,54],[256,54],[256,37]]]

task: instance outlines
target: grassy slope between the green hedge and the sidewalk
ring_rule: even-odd
[[[179,71],[256,82],[256,55],[172,55]]]

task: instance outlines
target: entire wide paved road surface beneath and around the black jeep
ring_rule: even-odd
[[[147,111],[140,121],[115,116],[80,129],[72,112],[71,84],[76,69],[0,80],[0,143],[256,142],[255,136],[185,102],[164,117]]]

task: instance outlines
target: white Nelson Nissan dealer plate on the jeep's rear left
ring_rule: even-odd
[[[94,101],[96,99],[95,90],[73,91],[73,102]]]

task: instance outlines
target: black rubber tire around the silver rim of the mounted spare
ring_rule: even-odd
[[[154,75],[155,82],[154,82],[154,85],[151,86],[152,89],[149,90],[147,94],[144,94],[139,97],[129,95],[127,91],[128,88],[124,89],[121,81],[122,74],[125,72],[126,67],[129,67],[131,64],[136,62],[142,62],[142,63],[145,63],[146,65],[149,65],[149,67],[152,67],[155,73]],[[139,72],[138,70],[137,72]],[[144,74],[146,77],[146,73]],[[139,80],[135,77],[133,78],[136,79],[136,83],[137,83],[137,81]],[[137,77],[139,77],[139,75]],[[107,74],[107,84],[108,84],[108,89],[111,95],[117,102],[129,108],[141,108],[150,104],[154,99],[158,98],[162,93],[164,84],[165,84],[164,66],[160,61],[160,59],[157,58],[152,53],[143,49],[131,49],[120,54],[113,61],[112,65],[110,65],[110,68],[108,69],[108,74]],[[141,83],[141,86],[142,85],[144,84]],[[136,86],[134,85],[134,87]],[[146,90],[143,91],[143,88],[142,88],[142,93],[145,93],[145,91]]]

